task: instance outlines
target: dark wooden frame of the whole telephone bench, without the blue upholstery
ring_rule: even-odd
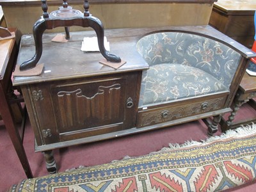
[[[192,100],[184,99],[181,106],[175,104],[172,108],[184,111],[188,106],[195,106],[191,108],[195,111],[191,111],[190,115],[179,118],[168,116],[168,121],[138,126],[138,122],[143,122],[145,118],[142,112],[146,114],[152,111],[154,114],[160,111],[161,114],[164,107],[169,109],[171,106],[141,108],[141,112],[138,113],[141,74],[143,70],[147,70],[148,64],[136,50],[136,43],[146,33],[170,29],[190,33],[200,32],[203,36],[214,36],[225,44],[232,43],[232,47],[242,54],[241,61],[229,92]],[[51,42],[56,33],[44,33],[42,40],[45,48],[38,61],[44,63],[44,72],[40,76],[14,78],[13,84],[22,89],[28,108],[35,132],[35,150],[44,153],[49,172],[56,172],[56,163],[52,154],[54,148],[159,129],[210,116],[216,116],[213,124],[217,125],[220,115],[231,111],[233,93],[238,88],[248,58],[255,56],[246,53],[250,49],[210,26],[112,29],[106,30],[105,34],[110,42],[111,52],[127,61],[118,69],[100,64],[99,61],[103,57],[99,52],[80,51],[83,37],[95,36],[94,31],[70,33],[72,38],[66,44]],[[34,51],[33,37],[22,36],[17,65],[31,58]],[[208,109],[206,106],[205,112],[204,102],[216,100],[217,96],[219,98],[222,96],[221,102],[216,103],[218,108]],[[166,116],[163,118],[166,119]]]

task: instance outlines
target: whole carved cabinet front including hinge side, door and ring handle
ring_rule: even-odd
[[[108,138],[104,134],[135,127],[140,76],[130,72],[23,87],[37,145],[102,140]]]

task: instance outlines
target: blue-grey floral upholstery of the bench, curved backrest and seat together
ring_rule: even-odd
[[[241,54],[204,36],[165,32],[144,36],[139,106],[229,90]]]

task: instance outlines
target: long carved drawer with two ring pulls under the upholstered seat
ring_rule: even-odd
[[[200,115],[223,108],[226,97],[218,99],[201,100],[200,102],[172,102],[163,107],[141,109],[138,112],[137,127],[161,124],[188,116]],[[186,104],[185,104],[186,103]]]

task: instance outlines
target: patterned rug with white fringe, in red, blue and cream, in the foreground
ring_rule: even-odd
[[[252,125],[147,156],[22,180],[10,191],[222,191],[255,180],[255,163]]]

